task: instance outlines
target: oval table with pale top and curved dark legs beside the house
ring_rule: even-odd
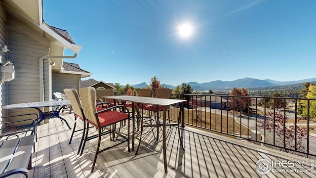
[[[41,121],[45,119],[52,119],[52,118],[59,118],[61,121],[65,121],[67,124],[67,127],[71,129],[69,126],[68,122],[60,117],[59,113],[60,111],[66,106],[70,105],[69,100],[54,100],[54,101],[38,101],[38,102],[27,102],[27,103],[18,103],[18,104],[9,104],[6,106],[3,106],[3,109],[27,109],[27,108],[34,108],[37,109],[40,113],[40,121],[38,121],[38,125],[40,124]],[[42,107],[51,107],[51,106],[57,106],[57,108],[53,111],[46,111],[43,112],[40,110]]]

